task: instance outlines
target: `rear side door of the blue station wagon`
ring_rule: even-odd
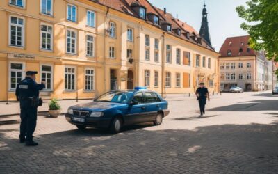
[[[146,102],[146,116],[145,122],[154,121],[156,119],[157,112],[161,109],[160,99],[153,92],[145,92]]]

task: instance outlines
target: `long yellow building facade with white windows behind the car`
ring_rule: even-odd
[[[193,93],[199,81],[219,90],[217,52],[148,22],[152,6],[142,19],[135,14],[142,5],[105,2],[0,1],[0,100],[15,100],[15,86],[28,70],[47,82],[42,97],[61,100],[134,86]]]

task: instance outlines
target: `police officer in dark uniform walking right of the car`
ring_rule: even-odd
[[[197,100],[199,101],[199,108],[201,112],[201,116],[203,116],[204,112],[204,107],[206,106],[206,98],[209,101],[209,93],[208,93],[208,88],[204,86],[204,83],[199,84],[199,88],[196,90],[196,96]]]

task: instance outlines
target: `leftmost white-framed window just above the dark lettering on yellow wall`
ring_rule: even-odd
[[[17,21],[18,21],[18,18],[20,18],[20,19],[22,19],[23,20],[23,25],[20,25],[20,24],[12,24],[12,17],[16,17],[17,18]],[[21,37],[22,37],[22,45],[12,45],[12,43],[11,43],[11,34],[12,34],[12,30],[11,30],[11,28],[12,28],[12,25],[13,26],[15,26],[15,27],[18,27],[18,26],[21,26],[22,27],[22,35],[21,35]],[[8,28],[8,31],[9,31],[9,35],[8,35],[8,40],[9,40],[9,46],[10,47],[19,47],[19,48],[24,48],[24,46],[25,46],[25,18],[24,17],[19,17],[19,16],[17,16],[17,15],[10,15],[9,16],[9,26],[8,26],[9,28]],[[17,42],[17,40],[16,40],[16,42]]]

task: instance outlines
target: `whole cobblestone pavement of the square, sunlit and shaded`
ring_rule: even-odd
[[[18,123],[0,125],[0,173],[278,173],[277,99],[215,95],[204,118],[194,98],[172,99],[161,126],[117,135],[39,116],[37,147],[18,142]]]

